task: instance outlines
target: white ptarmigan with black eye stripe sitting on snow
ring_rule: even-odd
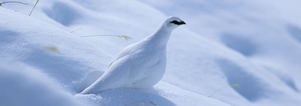
[[[169,36],[182,24],[186,23],[180,18],[168,17],[158,31],[120,51],[104,74],[81,94],[115,88],[149,88],[157,84],[165,73]]]

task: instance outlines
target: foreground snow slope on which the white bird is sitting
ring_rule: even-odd
[[[149,89],[79,94],[102,75],[113,56],[34,17],[3,7],[0,14],[2,105],[229,106],[164,82]]]

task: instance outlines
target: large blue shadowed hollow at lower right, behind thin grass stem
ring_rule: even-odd
[[[261,79],[246,72],[230,60],[218,60],[217,63],[226,75],[229,84],[240,85],[240,88],[233,87],[240,95],[252,102],[266,96],[268,89]]]

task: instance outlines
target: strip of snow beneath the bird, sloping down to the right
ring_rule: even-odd
[[[149,89],[109,89],[97,94],[76,94],[74,97],[91,105],[228,106],[164,82]]]

